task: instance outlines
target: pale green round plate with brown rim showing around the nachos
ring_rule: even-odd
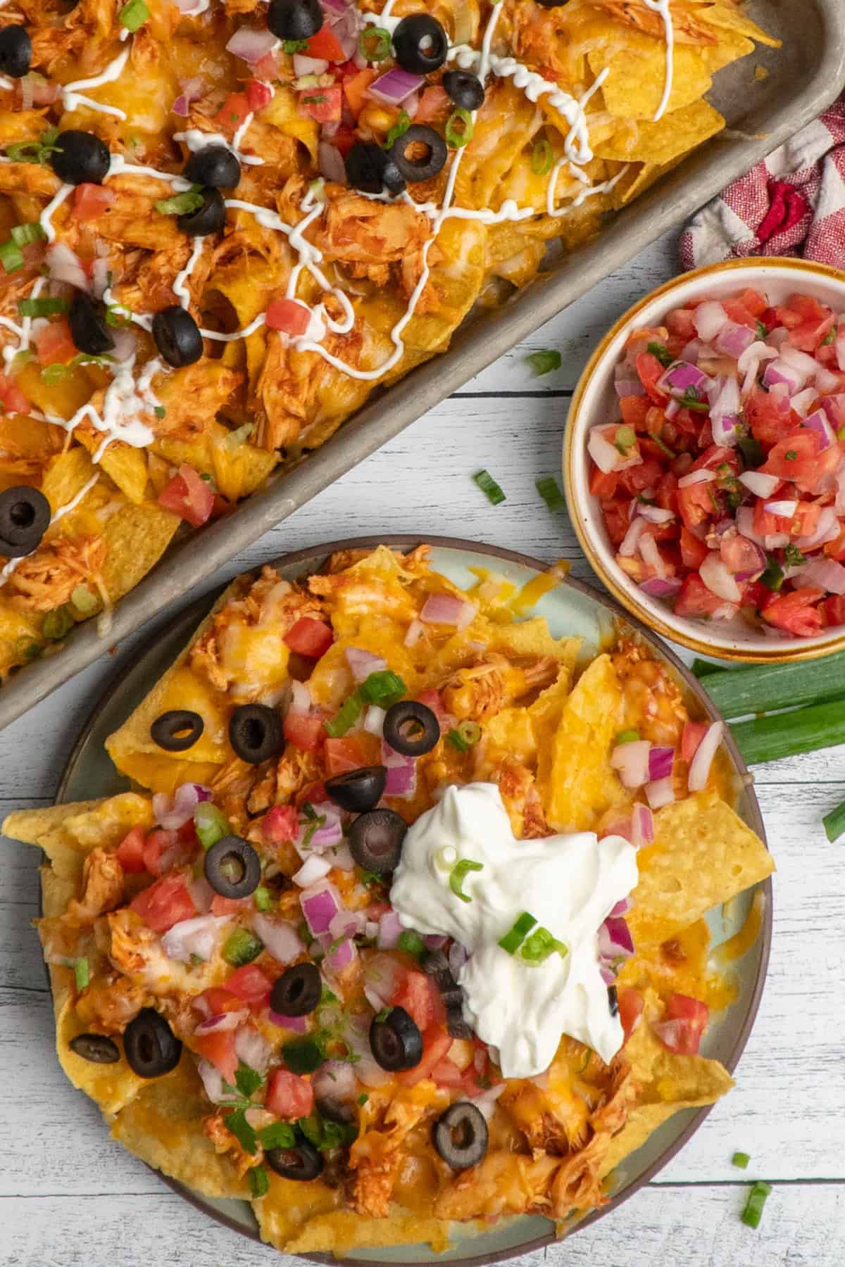
[[[398,550],[409,550],[426,540],[432,546],[432,564],[461,587],[475,583],[471,568],[488,568],[507,576],[517,587],[531,580],[538,571],[546,570],[546,564],[509,550],[475,545],[450,537],[390,537],[386,545]],[[310,550],[285,555],[272,566],[289,580],[295,576],[318,571],[334,550],[357,550],[375,547],[381,544],[379,537],[356,537],[351,541],[333,541]],[[143,699],[165,669],[185,646],[199,621],[205,616],[220,589],[210,590],[204,598],[191,603],[174,618],[146,651],[137,655],[115,680],[109,683],[68,758],[58,786],[57,801],[82,801],[90,797],[111,796],[129,787],[105,753],[105,739],[120,726],[132,710]],[[599,594],[589,585],[578,580],[564,580],[555,589],[543,594],[540,602],[526,614],[545,616],[549,627],[556,637],[575,635],[584,639],[583,658],[592,659],[614,630],[622,628],[637,632],[649,644],[654,655],[666,663],[675,679],[682,685],[684,698],[693,706],[696,715],[713,720],[718,717],[698,680],[685,665],[645,626],[633,620],[622,607]],[[736,808],[745,822],[765,840],[763,818],[756,797],[750,786],[745,764],[727,732],[727,751],[734,768],[737,793]],[[732,1071],[742,1053],[756,1016],[772,940],[772,882],[759,886],[765,893],[763,930],[755,944],[737,964],[737,998],[709,1028],[703,1044],[703,1054],[722,1062]],[[708,915],[713,944],[731,936],[745,920],[751,901],[751,891],[731,902],[730,920],[723,919],[721,908]],[[675,1114],[656,1130],[649,1140],[625,1159],[613,1173],[611,1201],[602,1210],[587,1215],[578,1228],[587,1226],[599,1219],[606,1211],[616,1209],[632,1196],[644,1183],[647,1183],[682,1148],[694,1130],[704,1120],[709,1109],[690,1109]],[[246,1201],[212,1200],[185,1187],[185,1185],[161,1176],[166,1183],[193,1205],[204,1210],[213,1219],[258,1240],[258,1232],[251,1206]],[[578,1228],[573,1230],[578,1230]],[[504,1219],[484,1232],[474,1235],[462,1232],[460,1224],[454,1224],[454,1245],[442,1254],[436,1254],[428,1245],[399,1245],[385,1249],[362,1249],[347,1256],[348,1261],[360,1263],[423,1263],[454,1262],[461,1267],[493,1263],[518,1253],[538,1249],[555,1239],[554,1225],[538,1215],[522,1215]],[[336,1264],[337,1258],[329,1254],[305,1254],[314,1262]]]

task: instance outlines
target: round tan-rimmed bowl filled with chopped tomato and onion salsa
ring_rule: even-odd
[[[731,261],[663,288],[597,350],[569,432],[584,549],[652,626],[741,659],[845,639],[841,275]]]

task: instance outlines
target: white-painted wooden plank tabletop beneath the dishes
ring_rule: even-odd
[[[571,559],[573,530],[535,479],[560,478],[573,385],[598,336],[677,271],[666,237],[435,409],[218,579],[286,550],[359,533],[455,535]],[[562,367],[537,379],[533,348]],[[470,476],[486,466],[507,492],[490,507]],[[208,588],[208,587],[206,587]],[[0,810],[47,805],[113,656],[0,734]],[[845,706],[844,706],[845,707]],[[845,797],[845,749],[756,770],[778,864],[774,940],[763,1006],[736,1090],[658,1181],[616,1214],[547,1251],[560,1267],[841,1267],[845,1263],[845,848],[821,816]],[[8,1267],[247,1267],[272,1251],[220,1228],[114,1144],[54,1057],[35,915],[37,856],[3,850],[0,884],[0,1263]],[[731,1154],[753,1156],[744,1173]],[[759,1232],[739,1214],[750,1178],[774,1182]],[[521,1259],[526,1267],[531,1258]],[[286,1259],[283,1267],[293,1267]]]

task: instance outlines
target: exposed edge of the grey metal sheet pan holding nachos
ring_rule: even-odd
[[[614,215],[594,242],[564,256],[511,303],[467,319],[448,352],[376,392],[322,449],[272,475],[233,514],[177,541],[120,599],[106,639],[87,621],[57,655],[25,665],[3,687],[0,729],[369,457],[829,105],[845,81],[845,0],[751,0],[747,13],[779,35],[783,48],[756,48],[716,76],[708,96],[727,119],[727,136],[697,150]],[[768,71],[763,80],[754,77],[758,65]]]

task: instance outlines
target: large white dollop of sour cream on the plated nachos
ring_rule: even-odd
[[[450,886],[460,862],[462,901]],[[460,872],[459,872],[460,874]],[[404,927],[454,938],[469,958],[457,981],[464,1016],[498,1048],[505,1078],[551,1064],[562,1034],[609,1062],[622,1047],[598,964],[598,929],[636,887],[636,850],[592,831],[518,840],[494,783],[448,787],[409,829],[390,901]],[[566,953],[527,964],[498,943],[528,911]]]

